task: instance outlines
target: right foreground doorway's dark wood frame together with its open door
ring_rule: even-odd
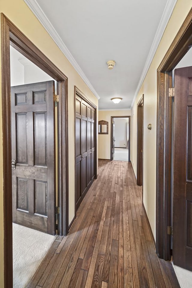
[[[172,74],[192,45],[191,29],[192,10],[157,71],[156,251],[160,258],[171,260],[173,240],[173,263],[177,262],[179,257],[177,265],[188,270],[192,270],[192,243],[189,240],[189,235],[192,235],[192,201],[188,173],[191,149],[191,67],[175,71],[174,87]]]

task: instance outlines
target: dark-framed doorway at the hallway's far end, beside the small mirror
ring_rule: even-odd
[[[131,116],[111,116],[110,160],[130,162]]]

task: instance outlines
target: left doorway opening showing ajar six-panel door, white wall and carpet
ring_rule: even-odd
[[[24,287],[58,230],[57,81],[10,46],[10,85],[13,287]]]

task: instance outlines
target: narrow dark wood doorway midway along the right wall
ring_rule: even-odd
[[[137,185],[143,185],[143,99],[137,106]]]

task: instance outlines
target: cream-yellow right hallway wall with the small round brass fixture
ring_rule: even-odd
[[[156,229],[156,125],[157,125],[157,68],[186,18],[192,0],[178,0],[155,57],[133,106],[131,121],[131,162],[137,175],[137,103],[144,94],[143,130],[143,202],[155,236]],[[147,124],[152,124],[152,130]]]

